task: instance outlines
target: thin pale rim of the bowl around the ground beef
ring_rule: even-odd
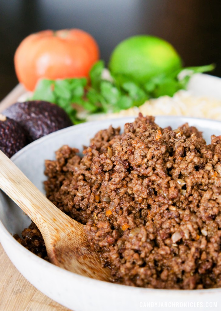
[[[81,123],[81,124],[77,124],[77,125],[73,125],[70,126],[68,128],[64,128],[61,130],[58,130],[56,132],[50,133],[44,137],[39,138],[38,140],[31,142],[30,144],[28,144],[27,146],[25,146],[24,148],[22,148],[20,151],[18,151],[15,155],[12,156],[11,160],[14,161],[16,160],[18,157],[22,156],[23,153],[27,150],[32,148],[32,146],[41,144],[42,141],[44,140],[48,140],[48,139],[52,139],[54,136],[56,137],[56,135],[58,135],[58,133],[60,132],[69,132],[69,131],[73,131],[73,128],[82,128],[85,125],[90,126],[92,124],[95,123],[104,123],[104,126],[107,128],[107,126],[109,126],[109,123],[111,124],[111,122],[116,122],[119,120],[119,123],[123,120],[128,120],[128,122],[131,122],[130,120],[133,120],[134,118],[136,118],[137,116],[127,116],[127,117],[123,117],[123,118],[113,118],[113,119],[107,119],[107,120],[99,120],[99,121],[90,121],[90,122],[85,122],[85,123]],[[155,116],[157,119],[163,119],[163,118],[172,118],[172,119],[177,119],[177,118],[183,118],[183,119],[191,119],[192,121],[196,120],[196,121],[206,121],[206,122],[213,122],[213,123],[218,123],[221,126],[221,121],[219,120],[212,120],[212,119],[205,119],[205,118],[194,118],[194,117],[186,117],[186,116]],[[221,129],[220,129],[221,131]],[[0,190],[2,191],[2,190]],[[81,276],[77,273],[74,272],[70,272],[67,271],[63,268],[60,268],[58,266],[53,265],[50,262],[47,262],[46,260],[44,260],[43,258],[38,257],[37,255],[35,255],[34,253],[32,253],[31,251],[29,251],[28,249],[26,249],[24,246],[22,246],[19,242],[16,241],[16,239],[12,236],[12,234],[5,228],[5,226],[3,225],[1,219],[0,219],[0,242],[2,240],[2,238],[7,239],[7,241],[13,245],[13,247],[15,247],[16,249],[18,249],[19,252],[22,252],[24,256],[29,257],[30,260],[32,262],[36,262],[38,264],[40,264],[41,266],[43,265],[43,267],[46,267],[47,269],[50,269],[52,271],[58,271],[58,272],[62,272],[65,275],[71,275],[72,277],[74,277],[76,279],[76,281],[88,281],[90,279],[90,284],[91,285],[101,285],[105,286],[108,290],[108,287],[116,287],[118,288],[118,290],[126,290],[127,293],[129,294],[130,291],[132,290],[134,294],[136,294],[136,292],[143,292],[143,293],[147,293],[148,292],[155,292],[156,290],[159,293],[168,293],[168,289],[156,289],[156,288],[145,288],[145,287],[136,287],[136,286],[129,286],[129,285],[122,285],[122,284],[117,284],[117,283],[111,283],[108,281],[100,281],[100,280],[96,280],[96,279],[91,279],[87,276]],[[2,246],[3,247],[3,246]],[[3,247],[4,248],[4,247]],[[102,282],[102,283],[101,283]],[[169,289],[171,290],[171,289]],[[208,288],[208,289],[194,289],[194,290],[182,290],[182,289],[173,289],[173,293],[176,295],[186,295],[186,294],[192,294],[192,293],[213,293],[213,292],[219,292],[221,291],[221,287],[218,288]]]

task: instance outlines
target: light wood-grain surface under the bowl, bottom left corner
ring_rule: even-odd
[[[0,244],[0,311],[70,311],[27,281]]]

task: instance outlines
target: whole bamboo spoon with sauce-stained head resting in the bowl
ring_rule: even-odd
[[[88,245],[84,225],[50,202],[1,150],[0,188],[37,225],[50,262],[83,276],[109,280],[110,269],[102,267],[99,255]]]

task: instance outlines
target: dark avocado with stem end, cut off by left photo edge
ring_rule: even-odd
[[[0,149],[10,158],[27,144],[25,130],[16,121],[0,114]]]

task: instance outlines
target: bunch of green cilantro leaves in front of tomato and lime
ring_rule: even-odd
[[[150,98],[168,95],[186,89],[191,76],[196,72],[208,72],[214,65],[181,68],[171,74],[161,74],[140,84],[136,79],[113,75],[104,76],[102,60],[90,70],[90,84],[85,78],[40,80],[33,94],[33,100],[46,100],[63,108],[74,124],[86,121],[94,113],[118,112],[134,106],[139,107]],[[77,116],[84,109],[85,118]]]

